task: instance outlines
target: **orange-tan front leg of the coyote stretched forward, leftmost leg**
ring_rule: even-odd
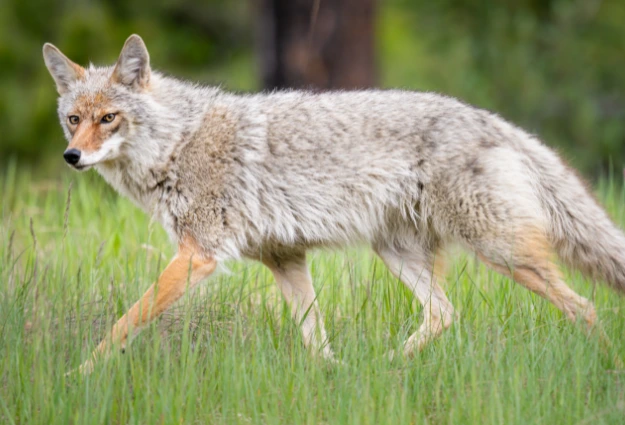
[[[89,360],[85,361],[78,371],[82,374],[91,373],[95,360],[106,357],[111,347],[117,346],[124,350],[132,336],[131,333],[136,334],[141,327],[158,317],[180,299],[187,287],[192,288],[208,277],[216,266],[217,262],[202,256],[194,244],[181,244],[178,254],[165,268],[158,281],[119,319],[109,335],[93,350]]]

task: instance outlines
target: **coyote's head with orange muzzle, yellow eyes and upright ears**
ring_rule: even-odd
[[[59,92],[58,113],[69,146],[65,161],[84,170],[123,157],[149,128],[150,57],[138,35],[126,40],[114,66],[83,68],[52,44],[43,58]],[[158,114],[156,114],[158,115]]]

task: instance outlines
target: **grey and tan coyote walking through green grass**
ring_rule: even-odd
[[[65,161],[95,168],[178,245],[157,282],[80,371],[209,276],[219,262],[261,261],[327,359],[306,251],[366,243],[423,305],[405,355],[456,316],[434,267],[459,242],[572,321],[596,320],[554,254],[625,290],[625,236],[575,172],[499,116],[433,93],[398,90],[231,94],[150,68],[130,36],[114,66],[83,68],[51,44]]]

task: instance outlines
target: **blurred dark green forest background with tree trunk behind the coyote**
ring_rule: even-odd
[[[228,90],[436,91],[497,112],[596,178],[625,163],[622,0],[2,0],[0,174],[64,173],[49,41]],[[619,171],[620,174],[620,171]]]

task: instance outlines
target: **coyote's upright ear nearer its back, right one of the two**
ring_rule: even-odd
[[[113,81],[133,88],[145,88],[150,82],[150,55],[141,37],[131,35],[124,43],[113,70]]]

